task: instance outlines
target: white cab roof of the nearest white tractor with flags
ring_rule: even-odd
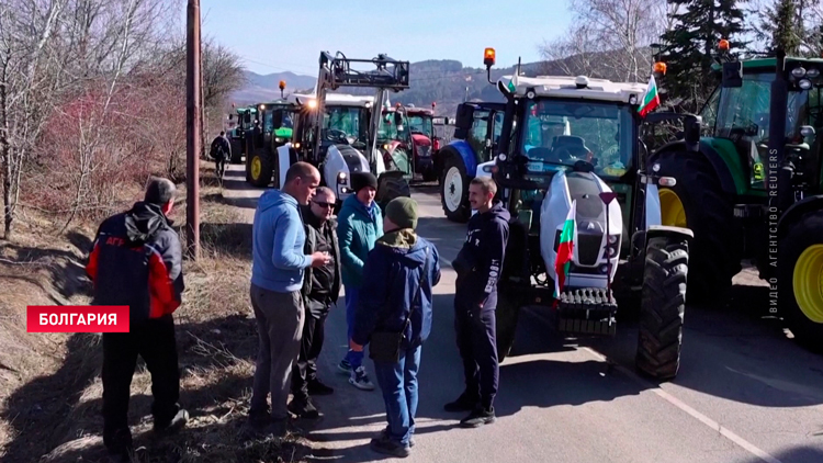
[[[509,90],[512,76],[503,76],[497,81],[500,92],[526,97],[533,91],[535,97],[577,98],[583,100],[613,101],[636,104],[646,91],[646,84],[640,82],[612,82],[607,79],[595,79],[586,76],[517,76],[515,90]]]

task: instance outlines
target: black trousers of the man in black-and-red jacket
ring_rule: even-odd
[[[171,422],[180,409],[180,372],[171,315],[135,324],[131,332],[103,334],[103,443],[122,450],[132,443],[128,400],[137,355],[151,374],[155,426]]]

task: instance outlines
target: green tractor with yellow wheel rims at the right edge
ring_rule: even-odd
[[[720,49],[699,151],[673,143],[650,158],[652,171],[676,178],[659,190],[662,222],[695,234],[689,301],[721,301],[748,260],[769,284],[770,315],[821,351],[823,59],[734,60],[726,41]]]

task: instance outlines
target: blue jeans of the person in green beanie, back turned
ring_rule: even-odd
[[[388,438],[404,447],[408,447],[415,433],[417,372],[420,370],[421,350],[422,346],[419,345],[402,349],[397,363],[374,362],[374,375],[386,405]]]

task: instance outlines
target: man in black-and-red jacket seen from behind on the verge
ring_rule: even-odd
[[[144,201],[105,219],[92,244],[86,272],[92,305],[127,305],[128,332],[103,334],[103,444],[127,461],[132,449],[128,400],[137,355],[151,373],[155,431],[177,430],[189,414],[180,408],[180,375],[172,313],[184,289],[180,238],[167,215],[174,184],[151,179]]]

